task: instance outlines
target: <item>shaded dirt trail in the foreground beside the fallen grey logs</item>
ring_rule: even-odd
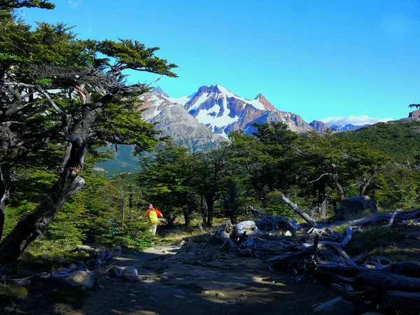
[[[330,286],[272,272],[262,259],[221,253],[218,246],[157,246],[116,262],[136,267],[141,281],[99,276],[103,288],[81,314],[312,314],[312,304],[339,295]]]

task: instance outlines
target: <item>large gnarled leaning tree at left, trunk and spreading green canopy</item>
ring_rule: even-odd
[[[176,65],[156,57],[159,48],[137,41],[82,41],[62,24],[38,23],[32,31],[9,10],[0,12],[2,212],[13,169],[63,153],[57,182],[1,242],[4,263],[43,237],[62,205],[83,186],[86,151],[105,141],[132,144],[137,152],[157,143],[154,126],[134,111],[135,97],[148,85],[128,84],[124,71],[176,76],[171,71]]]

